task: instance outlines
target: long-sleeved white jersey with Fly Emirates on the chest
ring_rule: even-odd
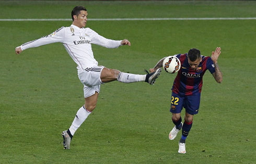
[[[76,62],[78,73],[87,67],[98,65],[98,61],[94,58],[91,44],[107,48],[117,48],[121,45],[121,41],[106,39],[90,28],[78,28],[72,24],[70,27],[62,27],[38,40],[22,44],[20,47],[23,51],[27,48],[56,42],[63,43],[67,53]]]

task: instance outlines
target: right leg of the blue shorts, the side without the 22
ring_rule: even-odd
[[[201,94],[187,96],[184,101],[184,108],[190,115],[196,115],[199,111]]]

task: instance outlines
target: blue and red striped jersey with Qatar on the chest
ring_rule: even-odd
[[[196,70],[191,69],[188,62],[188,54],[174,55],[180,59],[181,68],[174,79],[172,91],[181,96],[189,96],[201,93],[203,86],[203,75],[208,69],[211,73],[215,72],[215,67],[211,57],[202,56],[202,61]]]

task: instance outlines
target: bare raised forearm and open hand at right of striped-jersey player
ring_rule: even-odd
[[[222,72],[219,69],[219,65],[218,65],[218,57],[220,55],[220,47],[217,47],[215,52],[212,52],[212,60],[213,60],[213,64],[214,64],[214,68],[215,68],[215,72],[213,73],[213,77],[216,80],[217,83],[222,83]]]

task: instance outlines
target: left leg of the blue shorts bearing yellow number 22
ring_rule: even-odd
[[[180,96],[174,92],[171,93],[171,108],[172,113],[181,113],[184,102],[184,96]]]

